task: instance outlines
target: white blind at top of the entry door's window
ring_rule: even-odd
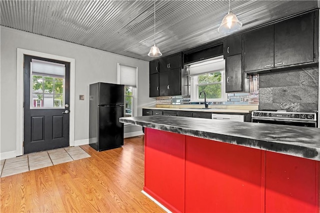
[[[32,73],[50,74],[64,76],[65,67],[62,63],[54,63],[44,60],[31,60]]]

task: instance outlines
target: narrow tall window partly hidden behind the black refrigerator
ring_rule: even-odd
[[[124,116],[137,115],[137,73],[136,66],[117,63],[117,83],[124,84]]]

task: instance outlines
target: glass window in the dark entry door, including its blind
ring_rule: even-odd
[[[31,95],[30,107],[31,108],[64,108],[64,71],[61,66],[56,63],[48,63],[45,66],[34,66],[32,69],[31,62]],[[41,62],[39,62],[41,63]],[[57,66],[59,71],[50,66]],[[40,67],[40,68],[39,68]],[[64,70],[64,66],[63,66]]]

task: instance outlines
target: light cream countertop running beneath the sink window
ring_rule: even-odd
[[[248,109],[220,109],[220,108],[161,108],[161,107],[142,107],[144,109],[153,110],[175,110],[175,111],[204,111],[204,112],[228,112],[228,113],[251,113],[252,110]]]

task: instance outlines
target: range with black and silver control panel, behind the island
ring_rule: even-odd
[[[252,111],[252,122],[317,127],[316,112]]]

